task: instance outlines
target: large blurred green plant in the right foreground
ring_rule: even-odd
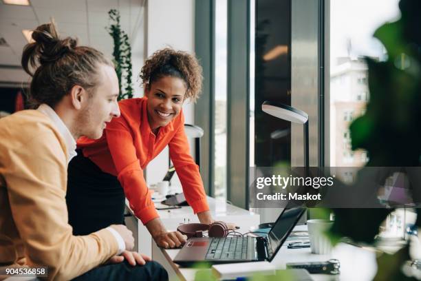
[[[385,23],[374,33],[387,50],[387,61],[366,58],[370,101],[366,113],[349,127],[352,149],[366,149],[367,166],[371,167],[420,166],[421,2],[401,0],[399,8],[402,17]],[[420,186],[412,183],[411,189],[414,202],[420,202]],[[333,211],[333,236],[373,243],[380,224],[392,209]],[[417,215],[416,225],[420,227],[421,209],[417,209]],[[391,256],[382,255],[375,280],[412,280],[400,271],[402,263],[410,259],[408,247]]]

